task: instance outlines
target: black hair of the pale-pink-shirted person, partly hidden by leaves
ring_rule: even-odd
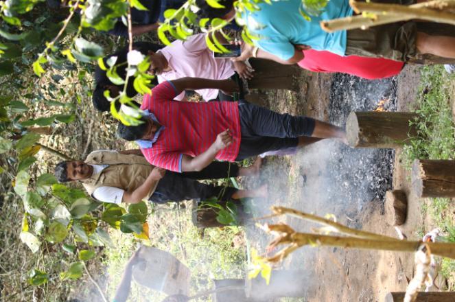
[[[141,51],[141,54],[143,54],[144,56],[147,56],[148,51],[150,51],[150,50],[156,52],[159,49],[163,48],[163,45],[148,43],[148,42],[135,42],[135,43],[133,43],[132,46],[133,46],[133,49]],[[117,61],[115,62],[116,65],[126,62],[127,54],[128,54],[128,47],[124,47],[124,48],[120,49],[119,51],[116,51],[114,54],[105,56],[103,58],[104,66],[108,67],[107,60],[108,60],[108,58],[113,57],[113,56],[117,56]],[[126,78],[126,66],[127,65],[124,64],[124,65],[117,67],[117,74],[120,76],[120,78],[123,78],[123,79]],[[96,86],[95,86],[95,91],[93,91],[93,97],[92,97],[93,106],[95,106],[95,108],[99,111],[109,111],[110,102],[104,96],[104,91],[106,90],[106,89],[104,89],[104,86],[114,85],[114,86],[117,86],[120,91],[122,91],[124,89],[124,86],[115,85],[115,84],[113,84],[113,82],[110,82],[108,76],[106,75],[106,71],[102,70],[100,68],[100,66],[98,66],[98,65],[95,67],[94,77],[95,77]],[[128,84],[126,86],[126,95],[128,95],[128,97],[134,97],[135,95],[137,95],[137,91],[132,84],[134,81],[135,81],[135,78],[133,78],[133,77],[128,78]],[[152,80],[152,84],[154,84],[154,85],[158,84],[158,81],[156,80],[156,78],[154,78]],[[120,106],[120,105],[118,105],[118,106]],[[117,110],[119,110],[119,108],[117,108]]]

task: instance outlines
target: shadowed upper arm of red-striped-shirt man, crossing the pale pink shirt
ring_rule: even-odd
[[[176,95],[179,95],[185,89],[198,90],[198,89],[220,89],[226,94],[239,91],[237,83],[233,80],[209,80],[204,78],[180,78],[172,80],[172,84],[176,89]]]

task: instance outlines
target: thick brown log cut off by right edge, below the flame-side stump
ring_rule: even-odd
[[[412,191],[419,197],[455,197],[455,161],[416,159]]]

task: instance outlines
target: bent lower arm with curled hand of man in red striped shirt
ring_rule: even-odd
[[[226,148],[232,143],[232,134],[231,130],[227,129],[221,132],[216,140],[211,144],[209,149],[205,152],[199,154],[198,156],[191,157],[187,154],[182,156],[182,172],[192,172],[200,171],[210,165],[210,163],[215,159],[216,154],[220,150]]]

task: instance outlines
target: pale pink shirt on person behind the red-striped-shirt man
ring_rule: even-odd
[[[175,40],[171,45],[159,50],[169,62],[172,71],[158,75],[158,82],[171,81],[179,78],[206,78],[225,80],[234,74],[234,65],[229,58],[213,58],[213,53],[207,48],[205,34],[195,34],[186,41]],[[199,89],[205,101],[218,96],[218,89]],[[177,95],[175,100],[182,100],[185,92]]]

